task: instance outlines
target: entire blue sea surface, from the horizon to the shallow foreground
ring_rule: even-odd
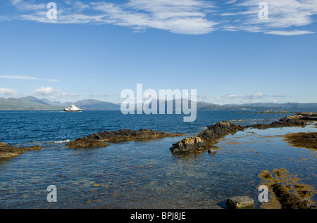
[[[261,170],[284,167],[317,188],[316,151],[289,146],[282,137],[264,137],[302,128],[239,132],[225,138],[237,144],[220,142],[216,155],[170,153],[170,146],[184,136],[93,149],[66,148],[66,144],[106,130],[190,135],[222,120],[251,125],[281,117],[285,114],[201,111],[195,122],[183,122],[183,115],[120,111],[0,111],[0,142],[43,146],[41,151],[27,151],[0,163],[0,208],[225,208],[225,199],[237,195],[250,196],[259,208],[256,187]],[[313,127],[306,130],[316,132]],[[46,200],[49,185],[57,188],[56,203]]]

